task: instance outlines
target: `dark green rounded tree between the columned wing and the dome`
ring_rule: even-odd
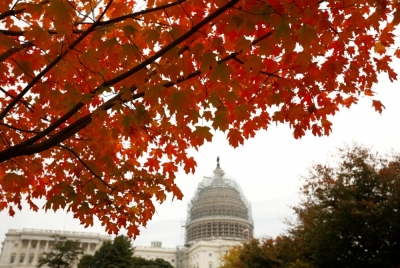
[[[132,268],[133,248],[126,236],[117,236],[114,241],[105,241],[94,256],[85,255],[78,268]]]

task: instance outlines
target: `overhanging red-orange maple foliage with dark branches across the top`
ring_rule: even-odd
[[[143,6],[145,3],[146,6]],[[0,210],[65,208],[139,233],[178,199],[189,148],[271,123],[328,135],[329,115],[391,80],[393,0],[3,0]]]

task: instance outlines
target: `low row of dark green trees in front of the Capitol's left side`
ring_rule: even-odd
[[[53,250],[44,254],[37,267],[72,268],[77,264],[78,268],[173,268],[163,259],[134,257],[134,249],[126,236],[117,236],[112,242],[106,241],[94,255],[83,256],[79,241],[65,237],[55,237],[55,240]]]

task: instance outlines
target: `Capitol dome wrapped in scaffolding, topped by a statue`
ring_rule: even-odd
[[[196,240],[248,240],[253,233],[250,202],[240,186],[224,178],[219,167],[214,176],[204,177],[188,204],[186,242]]]

